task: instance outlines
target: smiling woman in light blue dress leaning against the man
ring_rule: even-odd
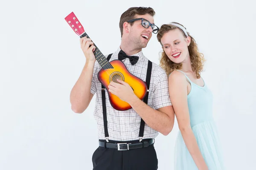
[[[200,76],[204,55],[179,23],[164,24],[157,34],[163,48],[160,66],[169,75],[169,94],[179,125],[176,170],[223,170],[212,93]]]

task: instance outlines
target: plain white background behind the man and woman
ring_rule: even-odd
[[[207,62],[227,170],[256,169],[256,10],[247,0],[14,0],[0,3],[0,170],[91,170],[98,147],[94,100],[73,113],[69,95],[85,63],[79,37],[64,20],[74,12],[103,54],[121,42],[119,18],[150,6],[155,24],[183,24]],[[153,35],[143,53],[159,64]],[[176,121],[176,120],[175,120]],[[155,148],[172,170],[177,121]]]

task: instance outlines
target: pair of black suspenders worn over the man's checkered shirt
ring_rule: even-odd
[[[107,60],[111,58],[112,54],[109,54],[107,57]],[[150,79],[151,79],[151,70],[152,70],[152,62],[148,60],[148,69],[147,69],[147,76],[146,76],[146,85],[147,89],[149,89],[150,85]],[[106,108],[106,95],[105,95],[105,87],[102,85],[102,110],[103,110],[103,123],[104,123],[104,132],[105,132],[105,139],[108,142],[108,121],[107,121],[107,108]],[[145,98],[143,99],[143,102],[145,104],[148,104],[148,93],[149,90],[147,91],[147,94]],[[144,127],[145,127],[145,122],[143,119],[140,121],[140,132],[139,132],[139,138],[140,142],[142,141],[143,135],[144,135]]]

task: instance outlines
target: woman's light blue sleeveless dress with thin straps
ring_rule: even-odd
[[[185,74],[184,72],[182,73]],[[224,170],[217,128],[212,117],[212,93],[205,83],[204,86],[201,87],[190,81],[187,76],[186,78],[191,84],[191,91],[187,96],[190,125],[199,149],[209,170]],[[180,130],[175,145],[174,169],[198,170],[186,147]]]

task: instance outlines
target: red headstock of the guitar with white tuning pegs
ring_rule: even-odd
[[[80,36],[84,33],[84,27],[81,25],[81,23],[79,22],[79,20],[73,12],[71,12],[67,17],[65,17],[65,20],[77,35]]]

